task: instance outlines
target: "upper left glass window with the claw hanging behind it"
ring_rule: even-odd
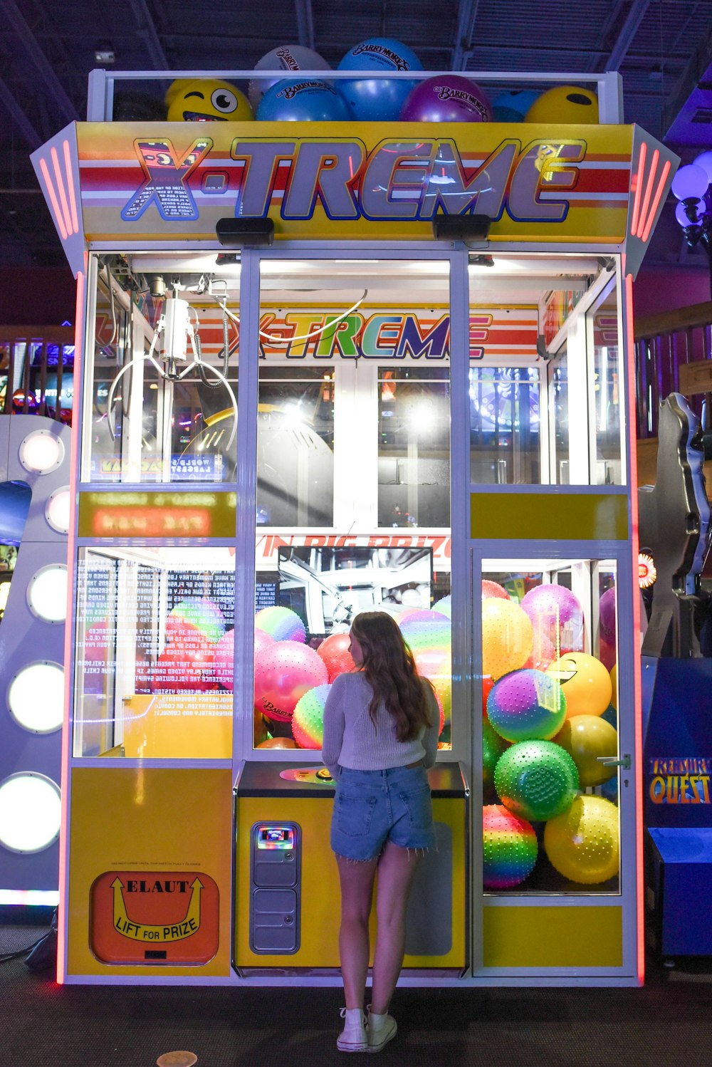
[[[237,283],[139,270],[113,256],[98,272],[84,478],[233,480]]]

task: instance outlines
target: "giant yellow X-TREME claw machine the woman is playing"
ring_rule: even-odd
[[[130,124],[113,77],[33,157],[83,307],[60,981],[339,982],[323,703],[378,608],[440,705],[403,981],[638,983],[612,634],[631,283],[675,158],[619,124],[617,76],[569,125],[250,122],[210,74]],[[182,121],[208,97],[238,121]]]

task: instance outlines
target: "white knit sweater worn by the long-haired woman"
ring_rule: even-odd
[[[395,723],[383,701],[376,708],[375,726],[369,715],[373,689],[361,672],[339,674],[324,706],[324,744],[322,759],[333,778],[341,767],[354,770],[387,770],[405,767],[422,760],[426,767],[435,763],[438,748],[440,711],[430,685],[424,685],[427,715],[433,723],[421,728],[414,740],[401,742]]]

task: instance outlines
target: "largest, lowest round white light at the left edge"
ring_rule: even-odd
[[[60,787],[51,778],[23,771],[0,783],[0,845],[41,853],[60,833]]]

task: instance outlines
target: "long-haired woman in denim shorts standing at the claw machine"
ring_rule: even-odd
[[[394,620],[363,611],[351,628],[355,671],[334,682],[324,708],[323,760],[336,781],[331,848],[341,882],[339,953],[346,1006],[337,1047],[378,1052],[395,1036],[388,1014],[403,966],[405,909],[422,850],[435,845],[426,767],[439,710]],[[376,890],[372,1003],[363,1013],[369,917]]]

